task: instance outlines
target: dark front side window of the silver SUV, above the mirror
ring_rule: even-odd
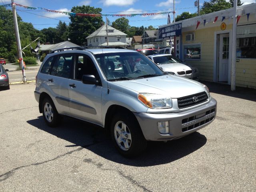
[[[76,55],[75,79],[82,80],[83,75],[94,75],[97,77],[97,70],[92,60],[86,55]]]

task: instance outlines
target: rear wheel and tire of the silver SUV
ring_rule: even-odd
[[[56,127],[60,122],[60,115],[56,110],[56,107],[50,98],[44,98],[42,102],[42,112],[44,121],[50,127]]]

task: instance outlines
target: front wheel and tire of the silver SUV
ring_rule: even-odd
[[[110,133],[115,147],[125,157],[134,157],[142,154],[147,147],[138,121],[127,111],[113,116]]]

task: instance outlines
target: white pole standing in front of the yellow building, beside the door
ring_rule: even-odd
[[[231,58],[231,90],[236,90],[236,10],[237,0],[234,0],[234,15],[232,28],[232,58]]]

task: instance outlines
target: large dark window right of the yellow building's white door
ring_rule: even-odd
[[[256,58],[256,24],[237,26],[236,57]]]

